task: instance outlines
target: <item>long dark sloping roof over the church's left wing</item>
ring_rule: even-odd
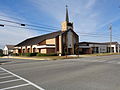
[[[44,35],[33,37],[33,38],[28,38],[28,39],[22,41],[21,43],[17,44],[16,46],[36,45],[39,42],[42,42],[46,39],[55,38],[56,36],[58,36],[62,33],[63,33],[62,31],[57,31],[57,32],[52,32],[52,33],[49,33],[49,34],[44,34]]]

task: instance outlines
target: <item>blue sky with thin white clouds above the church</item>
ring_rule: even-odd
[[[0,0],[0,19],[45,24],[60,30],[60,24],[65,20],[66,4],[80,41],[108,42],[108,27],[112,24],[113,41],[120,42],[120,0]],[[15,25],[3,21],[0,24]],[[17,44],[28,37],[49,33],[44,29],[39,30],[0,27],[0,48],[5,44]]]

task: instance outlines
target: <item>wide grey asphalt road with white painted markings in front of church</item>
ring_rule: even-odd
[[[120,55],[0,61],[0,90],[120,90]]]

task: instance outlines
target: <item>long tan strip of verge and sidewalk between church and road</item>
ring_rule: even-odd
[[[109,55],[120,55],[119,53],[101,53],[101,54],[86,54],[86,55],[68,55],[66,56],[44,56],[44,57],[25,57],[25,56],[4,56],[0,58],[16,58],[16,59],[30,59],[30,60],[59,60],[59,59],[75,59],[95,56],[109,56]]]

